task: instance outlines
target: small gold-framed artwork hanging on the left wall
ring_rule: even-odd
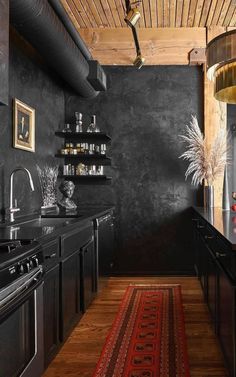
[[[35,151],[35,110],[17,98],[13,100],[13,147]]]

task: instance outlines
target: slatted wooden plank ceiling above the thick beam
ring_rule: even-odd
[[[61,2],[77,28],[126,27],[125,0]],[[236,26],[236,0],[142,0],[138,7],[142,28]]]

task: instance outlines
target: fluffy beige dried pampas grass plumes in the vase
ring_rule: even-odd
[[[192,116],[189,126],[186,126],[186,134],[180,135],[181,139],[187,144],[187,150],[179,158],[190,162],[185,173],[187,179],[192,176],[192,184],[212,185],[215,179],[223,173],[227,163],[227,132],[220,129],[215,137],[212,146],[209,148],[206,144],[197,118]]]

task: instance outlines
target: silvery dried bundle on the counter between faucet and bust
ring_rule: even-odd
[[[50,207],[55,205],[56,198],[56,182],[58,176],[58,166],[45,165],[40,168],[37,165],[37,172],[43,198],[43,206]]]

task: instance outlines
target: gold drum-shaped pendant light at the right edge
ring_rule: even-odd
[[[221,34],[207,45],[207,76],[214,81],[218,101],[236,103],[236,30]]]

